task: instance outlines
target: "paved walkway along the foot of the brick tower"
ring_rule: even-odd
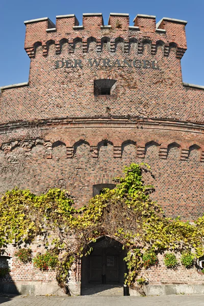
[[[15,296],[1,297],[1,306],[203,306],[204,295],[165,296]]]

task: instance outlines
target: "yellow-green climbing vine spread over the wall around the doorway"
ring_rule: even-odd
[[[115,189],[104,189],[79,210],[73,207],[70,194],[60,189],[39,196],[17,188],[6,192],[0,202],[0,247],[3,250],[9,243],[21,247],[40,237],[44,254],[55,253],[57,279],[65,288],[72,264],[88,256],[90,242],[101,236],[115,239],[127,250],[125,284],[131,287],[142,268],[157,264],[161,251],[203,256],[204,215],[194,223],[164,217],[162,208],[150,198],[154,187],[143,182],[142,175],[151,174],[150,167],[131,164],[123,172],[123,177],[114,179]],[[45,257],[40,256],[34,258],[36,266]]]

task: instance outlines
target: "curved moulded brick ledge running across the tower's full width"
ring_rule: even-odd
[[[71,124],[70,124],[71,123]],[[182,131],[182,132],[190,132],[190,133],[198,133],[200,135],[203,134],[204,131],[204,124],[203,123],[193,123],[187,121],[176,121],[176,120],[167,120],[157,119],[157,118],[142,118],[142,117],[132,117],[132,120],[127,117],[64,117],[64,118],[50,118],[50,119],[39,119],[39,120],[27,120],[27,121],[15,121],[15,122],[8,122],[8,123],[1,123],[0,124],[0,133],[5,133],[8,130],[15,131],[20,129],[35,129],[36,124],[40,129],[46,129],[49,126],[49,129],[52,127],[56,128],[57,126],[61,129],[72,129],[72,128],[85,128],[91,127],[92,129],[98,127],[119,127],[120,129],[127,128],[141,128],[144,130],[165,130],[165,131]],[[203,142],[201,142],[203,143]]]

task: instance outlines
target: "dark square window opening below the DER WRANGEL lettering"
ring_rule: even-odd
[[[94,95],[98,96],[116,96],[116,80],[101,79],[94,81]]]

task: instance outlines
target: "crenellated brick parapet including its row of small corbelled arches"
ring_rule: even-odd
[[[63,44],[68,44],[68,53],[74,53],[75,44],[81,42],[83,53],[89,52],[89,45],[95,42],[97,53],[103,52],[104,42],[110,53],[116,52],[121,43],[122,52],[130,53],[135,44],[135,54],[142,54],[145,44],[150,45],[151,55],[163,49],[168,56],[170,49],[176,49],[176,57],[182,58],[186,45],[185,25],[187,21],[163,18],[156,24],[156,16],[138,14],[134,25],[129,23],[129,14],[110,13],[108,25],[104,25],[101,13],[83,14],[83,24],[79,25],[74,14],[56,17],[56,25],[48,17],[24,21],[26,25],[24,48],[30,58],[35,57],[36,48],[42,46],[44,56],[49,46],[55,45],[60,54]]]

